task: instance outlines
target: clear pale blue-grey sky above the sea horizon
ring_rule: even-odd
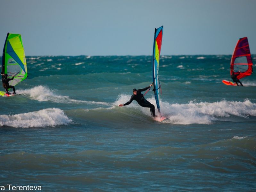
[[[256,0],[0,0],[0,48],[21,34],[27,56],[256,54]]]

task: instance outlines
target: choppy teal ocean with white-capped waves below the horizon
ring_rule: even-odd
[[[164,122],[118,107],[152,83],[152,56],[26,59],[18,95],[0,98],[6,191],[256,191],[256,76],[223,84],[231,55],[161,56]]]

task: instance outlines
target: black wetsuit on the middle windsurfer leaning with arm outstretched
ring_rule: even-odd
[[[150,108],[151,115],[155,116],[155,106],[152,105],[149,101],[145,100],[143,94],[141,93],[142,91],[146,91],[148,88],[149,87],[146,87],[144,89],[138,89],[137,95],[133,94],[131,96],[131,99],[127,103],[125,103],[124,106],[129,105],[133,100],[136,100],[141,107]]]

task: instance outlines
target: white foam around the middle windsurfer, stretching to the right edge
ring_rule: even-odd
[[[120,95],[115,105],[124,104],[130,99],[130,95]],[[146,98],[156,108],[155,99]],[[220,101],[220,102],[195,102],[190,101],[186,104],[170,104],[160,100],[161,115],[167,116],[165,121],[172,124],[211,124],[216,120],[223,120],[223,117],[240,116],[248,118],[248,115],[256,116],[256,103],[250,100],[240,101]],[[133,107],[143,111],[150,116],[149,108],[140,107],[133,101],[126,107]],[[156,109],[157,113],[157,109]]]

